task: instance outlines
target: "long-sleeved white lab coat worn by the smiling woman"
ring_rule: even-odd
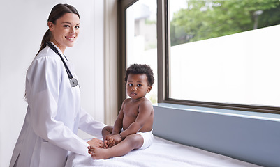
[[[64,60],[77,79],[73,65]],[[78,128],[101,137],[105,125],[81,108],[79,86],[71,87],[61,58],[50,47],[27,70],[26,97],[27,114],[10,167],[16,161],[21,167],[65,166],[68,151],[88,154],[88,144],[76,135]]]

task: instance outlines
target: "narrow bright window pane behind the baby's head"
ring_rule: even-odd
[[[156,0],[141,0],[126,9],[126,67],[147,64],[155,82],[146,97],[157,102]]]

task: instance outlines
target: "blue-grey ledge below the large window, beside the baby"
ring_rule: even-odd
[[[153,134],[260,166],[279,166],[280,115],[154,104]]]

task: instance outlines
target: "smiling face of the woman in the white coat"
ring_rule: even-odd
[[[64,53],[66,47],[73,47],[79,35],[80,18],[74,13],[65,13],[54,23],[47,22],[52,32],[51,41]]]

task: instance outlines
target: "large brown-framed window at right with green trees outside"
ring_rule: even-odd
[[[159,102],[279,113],[279,10],[158,0]]]

